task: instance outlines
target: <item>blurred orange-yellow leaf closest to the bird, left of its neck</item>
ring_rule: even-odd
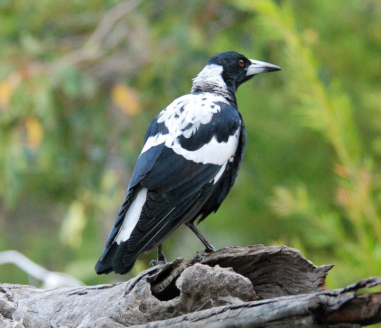
[[[135,116],[141,111],[137,92],[125,84],[119,83],[115,85],[111,98],[113,104],[122,109],[127,115]]]

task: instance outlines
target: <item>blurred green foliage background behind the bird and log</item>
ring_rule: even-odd
[[[240,87],[244,164],[200,229],[334,263],[330,288],[381,275],[380,21],[377,0],[0,1],[0,250],[87,284],[147,268],[93,271],[150,120],[235,50],[283,70]],[[201,248],[186,227],[164,242]]]

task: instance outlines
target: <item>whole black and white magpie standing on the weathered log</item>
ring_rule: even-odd
[[[186,224],[215,251],[194,221],[215,212],[236,179],[245,152],[245,124],[237,88],[277,65],[236,52],[214,55],[193,79],[191,93],[174,100],[151,122],[103,254],[98,274],[127,273],[139,254],[158,247]]]

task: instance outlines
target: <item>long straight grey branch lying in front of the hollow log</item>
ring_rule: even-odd
[[[381,322],[381,293],[357,295],[355,291],[379,284],[381,277],[371,277],[332,291],[254,302],[233,300],[231,305],[134,327],[362,327]]]

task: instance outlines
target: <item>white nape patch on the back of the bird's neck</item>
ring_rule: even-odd
[[[221,65],[206,65],[197,76],[192,79],[192,92],[205,87],[217,87],[217,89],[228,90],[221,74],[224,68]]]

